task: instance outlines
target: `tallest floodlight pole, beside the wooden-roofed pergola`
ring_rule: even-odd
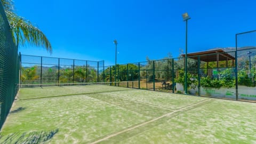
[[[187,76],[188,76],[188,68],[187,68],[187,63],[188,63],[188,58],[187,58],[187,53],[188,53],[188,20],[190,17],[188,16],[188,13],[182,14],[183,21],[186,21],[186,53],[185,53],[185,94],[188,93],[188,87],[187,87]]]

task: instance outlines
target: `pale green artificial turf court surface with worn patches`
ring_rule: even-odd
[[[0,143],[256,143],[256,103],[107,85],[23,88]]]

